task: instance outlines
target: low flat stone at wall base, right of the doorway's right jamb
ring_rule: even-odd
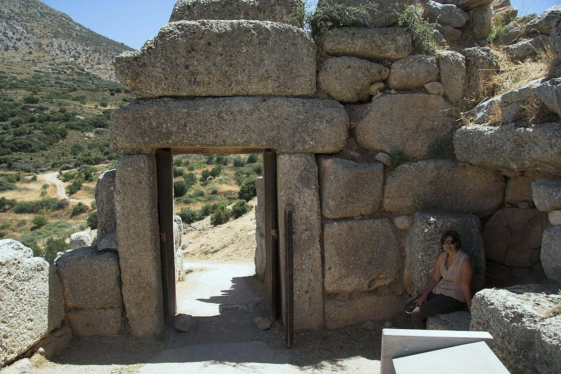
[[[355,325],[367,320],[389,320],[403,312],[405,299],[387,291],[338,294],[325,300],[328,329]]]

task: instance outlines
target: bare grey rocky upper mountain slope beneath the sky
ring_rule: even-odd
[[[48,70],[53,62],[75,61],[111,80],[116,79],[113,58],[132,50],[39,0],[0,0],[0,48],[4,63]]]

